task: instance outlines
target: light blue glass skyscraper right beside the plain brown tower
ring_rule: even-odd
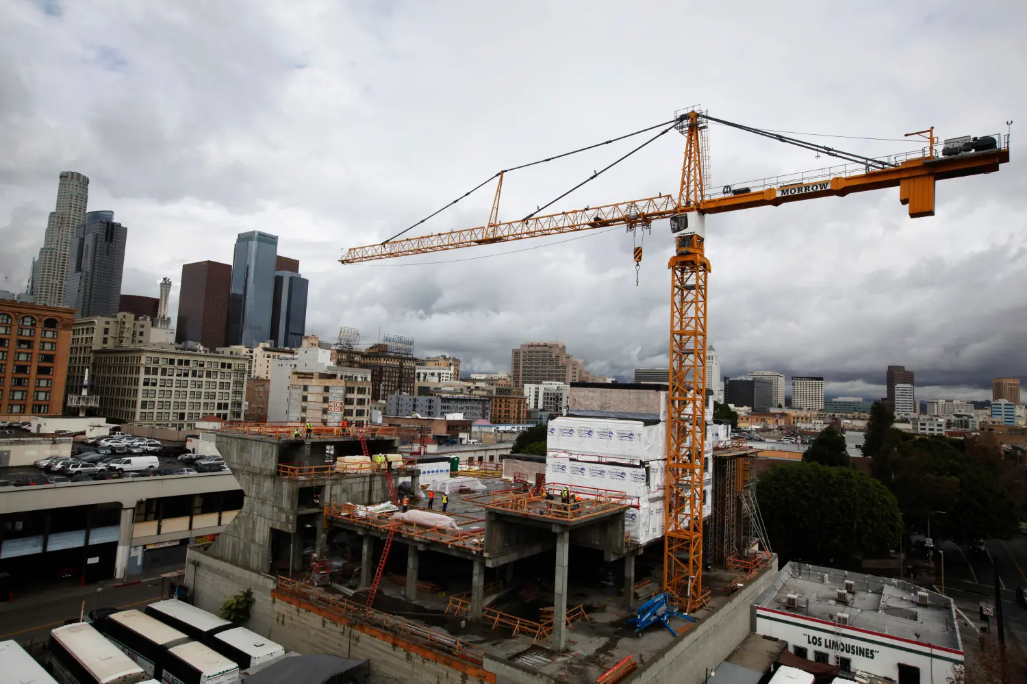
[[[277,235],[251,230],[236,238],[228,300],[228,344],[253,347],[271,339],[277,252]]]

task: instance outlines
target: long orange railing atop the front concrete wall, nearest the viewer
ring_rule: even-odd
[[[289,577],[278,577],[276,592],[298,599],[300,602],[335,614],[342,619],[364,622],[381,630],[402,634],[406,638],[414,638],[426,642],[432,648],[445,650],[450,655],[476,666],[481,666],[485,657],[485,649],[468,644],[465,641],[451,637],[444,632],[436,632],[420,622],[414,622],[403,617],[389,615],[373,608],[347,601],[342,597],[328,594],[310,584],[299,582]]]

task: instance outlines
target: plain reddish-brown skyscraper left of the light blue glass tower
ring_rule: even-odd
[[[176,342],[199,342],[207,349],[227,346],[231,284],[229,264],[217,261],[183,264]]]

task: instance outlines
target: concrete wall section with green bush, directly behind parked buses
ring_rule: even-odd
[[[221,537],[218,537],[220,540]],[[186,554],[185,583],[193,605],[216,615],[226,599],[244,590],[253,590],[254,605],[245,626],[265,637],[270,633],[273,619],[271,590],[275,585],[275,578],[271,575],[233,566],[193,546]]]

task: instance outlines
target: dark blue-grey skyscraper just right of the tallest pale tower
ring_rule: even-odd
[[[65,306],[75,317],[117,315],[127,237],[114,212],[89,212],[75,230],[65,289]]]

